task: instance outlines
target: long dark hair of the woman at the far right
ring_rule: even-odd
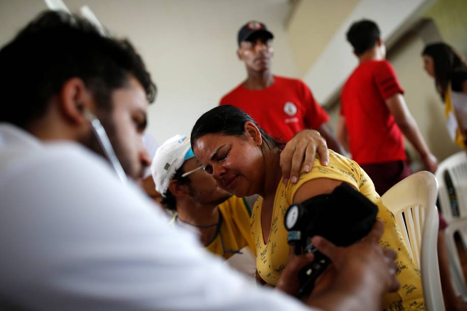
[[[448,83],[452,74],[460,68],[467,68],[462,56],[446,43],[428,44],[422,51],[422,56],[427,55],[433,59],[435,69],[435,87],[444,100]]]

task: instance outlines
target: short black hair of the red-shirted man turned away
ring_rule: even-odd
[[[373,48],[381,33],[374,21],[362,19],[350,26],[346,36],[347,41],[350,42],[355,54],[358,56]]]

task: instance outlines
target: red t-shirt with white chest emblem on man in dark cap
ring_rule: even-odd
[[[263,90],[249,90],[240,84],[222,97],[219,105],[242,109],[274,139],[285,143],[297,132],[318,129],[329,119],[305,83],[278,76]]]

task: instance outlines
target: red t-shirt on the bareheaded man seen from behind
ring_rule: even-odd
[[[341,93],[350,153],[358,164],[406,160],[404,137],[385,100],[404,94],[387,60],[360,63]]]

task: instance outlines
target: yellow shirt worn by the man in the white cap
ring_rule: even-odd
[[[255,254],[253,236],[250,229],[251,210],[248,203],[235,195],[218,206],[219,223],[217,232],[206,246],[210,252],[228,259],[248,246]],[[177,215],[172,222],[175,223]]]

